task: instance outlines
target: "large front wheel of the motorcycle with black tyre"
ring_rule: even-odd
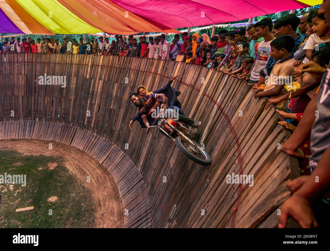
[[[193,140],[191,140],[193,141]],[[177,136],[175,138],[175,144],[180,149],[184,155],[186,155],[191,160],[203,166],[209,166],[211,164],[211,157],[201,145],[193,141],[196,146],[193,146],[188,140],[182,136]]]

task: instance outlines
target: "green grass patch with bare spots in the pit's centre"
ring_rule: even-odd
[[[58,157],[0,151],[0,175],[26,175],[26,186],[0,184],[0,227],[95,227],[94,198],[63,162]],[[33,210],[16,212],[31,206]]]

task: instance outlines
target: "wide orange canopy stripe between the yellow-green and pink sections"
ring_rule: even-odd
[[[64,7],[86,23],[108,34],[135,34],[139,32],[180,33],[166,25],[148,21],[105,0],[58,0]]]

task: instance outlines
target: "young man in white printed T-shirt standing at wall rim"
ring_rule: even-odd
[[[265,69],[270,58],[270,43],[275,39],[272,35],[273,21],[269,17],[262,19],[255,24],[255,32],[258,37],[263,37],[264,41],[258,44],[254,66],[252,66],[251,75],[247,75],[245,80],[248,83],[255,84],[259,81],[259,72]]]

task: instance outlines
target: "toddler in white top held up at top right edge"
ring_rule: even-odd
[[[314,34],[312,34],[304,47],[306,51],[306,58],[303,63],[308,63],[311,60],[311,54],[315,47],[320,43],[330,41],[329,23],[325,21],[324,14],[318,14],[317,12],[312,16]]]

